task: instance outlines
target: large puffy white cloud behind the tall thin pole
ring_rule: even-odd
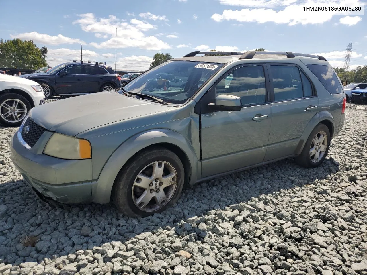
[[[132,23],[123,22],[113,15],[108,18],[96,18],[94,14],[87,13],[79,15],[80,19],[73,24],[79,24],[85,32],[102,33],[109,35],[110,39],[102,42],[92,42],[90,45],[97,49],[115,48],[116,28],[117,28],[117,48],[139,48],[159,51],[161,49],[170,49],[171,46],[166,42],[159,40],[155,36],[146,36],[143,31],[150,28],[150,24],[138,22],[132,19]],[[150,25],[150,26],[149,26]]]

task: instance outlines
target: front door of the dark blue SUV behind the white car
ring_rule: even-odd
[[[66,74],[60,76],[62,72]],[[83,93],[83,65],[72,65],[61,70],[55,76],[56,93],[58,95]]]

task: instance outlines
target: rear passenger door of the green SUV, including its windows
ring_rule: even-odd
[[[319,111],[315,88],[295,64],[267,64],[272,125],[264,161],[294,153],[311,118]]]

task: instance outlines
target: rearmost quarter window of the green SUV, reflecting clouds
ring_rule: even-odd
[[[307,67],[315,74],[330,94],[341,94],[343,92],[339,78],[331,66],[308,64]]]

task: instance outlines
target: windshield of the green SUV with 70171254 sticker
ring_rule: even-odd
[[[152,95],[167,103],[183,104],[221,67],[220,63],[168,61],[135,78],[124,86],[124,90]],[[180,81],[170,82],[174,79]]]

